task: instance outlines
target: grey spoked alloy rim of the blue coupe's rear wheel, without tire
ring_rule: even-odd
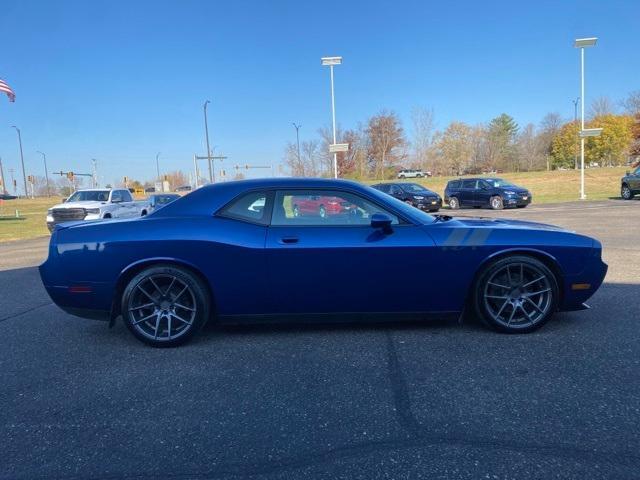
[[[188,332],[196,318],[193,291],[171,274],[143,278],[129,296],[127,313],[131,325],[154,341],[174,340]]]

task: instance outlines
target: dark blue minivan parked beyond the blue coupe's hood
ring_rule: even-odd
[[[444,200],[452,210],[460,207],[524,208],[531,203],[531,192],[501,178],[461,178],[447,183]]]

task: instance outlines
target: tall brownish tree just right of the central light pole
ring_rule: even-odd
[[[375,178],[383,178],[385,169],[394,167],[406,155],[407,141],[400,119],[394,112],[383,110],[369,119],[367,136]]]

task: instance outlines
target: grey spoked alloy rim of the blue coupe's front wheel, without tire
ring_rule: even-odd
[[[547,274],[529,263],[512,263],[488,279],[484,306],[500,325],[528,328],[543,320],[553,305],[553,290]]]

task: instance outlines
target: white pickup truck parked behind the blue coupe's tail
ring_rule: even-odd
[[[140,217],[144,204],[134,201],[124,188],[78,190],[47,210],[47,227],[51,232],[57,223],[73,220]]]

